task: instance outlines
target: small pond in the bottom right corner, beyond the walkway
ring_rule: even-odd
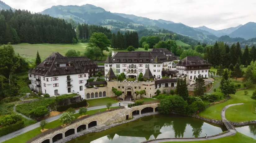
[[[235,127],[237,132],[256,139],[256,124]]]

